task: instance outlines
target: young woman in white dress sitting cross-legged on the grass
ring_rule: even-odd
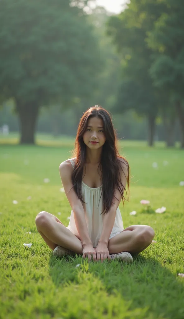
[[[119,155],[110,114],[100,105],[82,115],[73,155],[59,167],[72,208],[69,225],[41,211],[36,217],[40,235],[54,256],[77,253],[89,261],[133,262],[132,255],[148,247],[155,233],[145,225],[123,227],[118,206],[121,199],[124,204],[126,183],[129,190],[129,164]]]

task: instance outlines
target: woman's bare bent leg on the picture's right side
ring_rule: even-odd
[[[151,244],[154,235],[155,232],[150,226],[129,226],[109,240],[109,253],[117,254],[127,251],[130,254],[138,254]]]

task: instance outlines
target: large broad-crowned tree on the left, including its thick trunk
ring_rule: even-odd
[[[71,0],[0,2],[0,95],[16,102],[21,143],[34,143],[42,105],[70,106],[98,85],[103,60],[93,27],[76,5]]]

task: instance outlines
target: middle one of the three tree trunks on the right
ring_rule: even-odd
[[[166,130],[166,143],[167,147],[174,146],[174,128],[176,123],[175,115],[170,115],[169,117],[165,114],[162,115],[164,127]]]

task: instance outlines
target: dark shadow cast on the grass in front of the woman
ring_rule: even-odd
[[[51,256],[49,272],[54,284],[57,287],[66,283],[77,285],[78,274],[84,268],[76,265],[83,263],[81,256]],[[176,275],[173,275],[156,259],[139,254],[134,257],[133,264],[121,261],[89,263],[88,271],[99,278],[109,295],[116,290],[125,302],[131,301],[130,310],[148,307],[145,318],[184,318],[184,288],[177,269]]]

